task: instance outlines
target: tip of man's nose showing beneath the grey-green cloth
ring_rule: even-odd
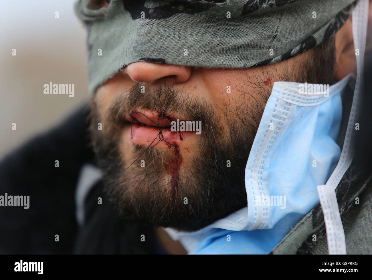
[[[191,75],[191,67],[152,62],[133,62],[124,68],[124,73],[133,81],[156,83],[166,80],[170,84],[187,81]]]

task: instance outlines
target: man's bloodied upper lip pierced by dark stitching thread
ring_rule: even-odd
[[[159,113],[151,110],[133,110],[128,120],[155,127],[170,127],[174,121],[170,116],[159,116]]]

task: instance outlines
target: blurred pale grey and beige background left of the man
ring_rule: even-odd
[[[86,31],[74,1],[1,1],[0,158],[89,100]],[[75,96],[45,95],[50,82],[75,84]]]

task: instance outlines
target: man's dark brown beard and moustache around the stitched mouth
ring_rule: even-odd
[[[282,81],[334,83],[334,40],[307,55],[296,71],[279,74],[266,68],[263,76]],[[226,104],[222,116],[211,102],[189,97],[168,84],[145,94],[141,93],[141,83],[135,84],[115,97],[105,116],[100,115],[93,100],[93,149],[103,171],[106,192],[121,215],[149,225],[195,231],[247,206],[244,171],[270,96],[265,79],[254,78],[253,83],[245,83],[251,84],[251,91],[240,91],[241,98]],[[132,145],[123,150],[122,131],[128,125],[125,116],[137,108],[157,112],[159,117],[176,112],[189,120],[201,121],[202,134],[194,147],[189,147],[191,158],[186,162],[179,147],[170,143],[169,149],[158,149],[156,145],[165,141],[160,127],[159,137],[151,145]],[[102,123],[103,130],[97,130],[97,123]],[[145,167],[138,164],[142,160]]]

